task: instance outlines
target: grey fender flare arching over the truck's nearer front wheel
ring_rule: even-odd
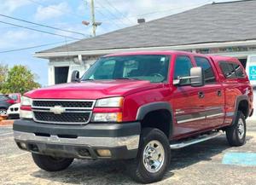
[[[172,111],[172,106],[170,105],[169,102],[166,101],[158,101],[158,102],[152,102],[143,105],[142,107],[139,107],[137,110],[137,116],[136,120],[141,121],[145,118],[147,113],[153,112],[153,111],[158,111],[158,110],[167,110],[171,114],[171,123],[170,124],[170,130],[169,130],[169,136],[172,136],[172,131],[173,131],[173,111]]]

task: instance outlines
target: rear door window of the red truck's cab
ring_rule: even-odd
[[[201,66],[201,68],[204,70],[206,84],[216,82],[212,66],[210,64],[210,61],[207,60],[207,58],[195,56],[195,63],[196,66]]]

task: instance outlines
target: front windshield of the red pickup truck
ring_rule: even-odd
[[[170,56],[122,55],[102,57],[84,73],[84,80],[137,79],[166,82]]]

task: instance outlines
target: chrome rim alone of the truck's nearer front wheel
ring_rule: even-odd
[[[143,151],[143,165],[146,170],[151,173],[160,171],[164,161],[165,149],[163,145],[156,140],[148,142]]]

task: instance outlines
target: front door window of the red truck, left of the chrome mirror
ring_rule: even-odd
[[[190,69],[192,68],[192,62],[189,56],[177,56],[174,67],[174,79],[177,77],[188,77],[190,76]],[[189,80],[188,80],[189,84]]]

